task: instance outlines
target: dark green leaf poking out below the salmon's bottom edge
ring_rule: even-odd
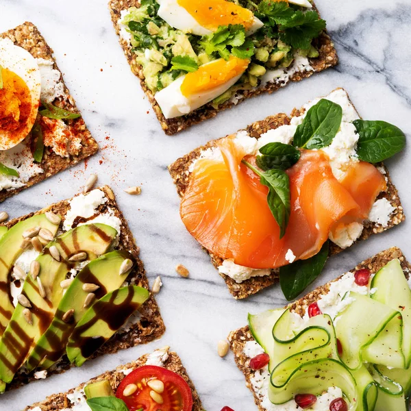
[[[279,285],[288,301],[300,295],[321,274],[328,258],[328,248],[326,241],[312,258],[298,260],[279,269]]]

